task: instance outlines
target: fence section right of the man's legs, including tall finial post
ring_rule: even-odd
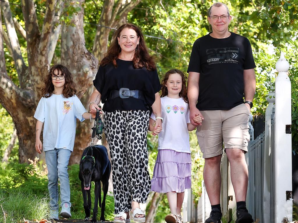
[[[289,63],[277,61],[275,93],[267,97],[265,131],[249,143],[248,209],[259,222],[292,221],[291,82]],[[275,104],[274,104],[275,103]]]

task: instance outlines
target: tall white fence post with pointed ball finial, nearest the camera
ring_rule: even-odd
[[[292,221],[291,81],[289,63],[281,52],[275,80],[275,207],[274,222]]]

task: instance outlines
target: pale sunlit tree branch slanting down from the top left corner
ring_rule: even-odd
[[[23,85],[22,73],[24,72],[24,70],[27,69],[27,66],[25,65],[25,62],[21,53],[20,43],[18,41],[18,36],[17,36],[17,33],[15,32],[15,26],[13,23],[13,17],[11,15],[9,2],[8,0],[4,0],[4,1],[1,1],[0,4],[3,12],[3,18],[5,21],[6,29],[7,29],[7,35],[10,40],[11,50],[13,52],[12,56],[15,62],[15,69],[18,72],[18,78],[22,86]]]

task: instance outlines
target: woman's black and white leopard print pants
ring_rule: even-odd
[[[147,131],[149,111],[105,112],[104,131],[110,147],[115,214],[145,203],[150,192]]]

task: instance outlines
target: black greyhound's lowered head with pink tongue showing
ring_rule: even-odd
[[[84,180],[84,189],[89,190],[93,174],[95,160],[93,156],[84,156],[80,161],[80,170]]]

